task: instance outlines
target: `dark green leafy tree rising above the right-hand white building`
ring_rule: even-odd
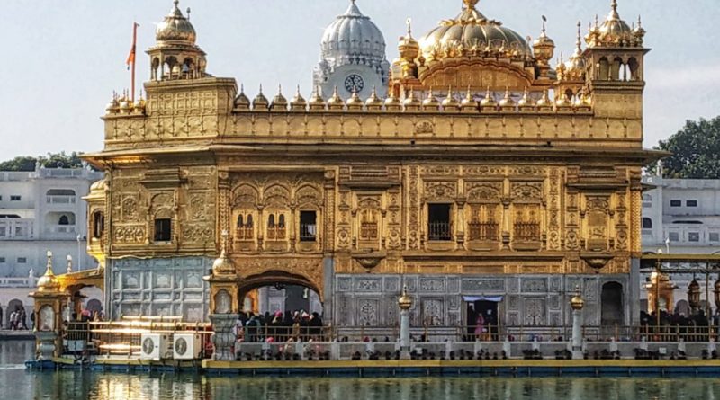
[[[656,148],[672,153],[662,160],[665,178],[720,179],[720,117],[688,120],[685,128]],[[654,165],[648,169],[655,170]]]

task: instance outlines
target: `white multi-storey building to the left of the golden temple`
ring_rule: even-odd
[[[96,268],[87,255],[87,206],[83,197],[104,173],[86,168],[0,171],[0,308],[3,326],[16,307],[31,315],[34,276],[45,271],[48,251],[55,273]],[[27,286],[26,286],[27,285]],[[23,296],[15,296],[23,293]],[[12,308],[12,309],[11,309]]]

